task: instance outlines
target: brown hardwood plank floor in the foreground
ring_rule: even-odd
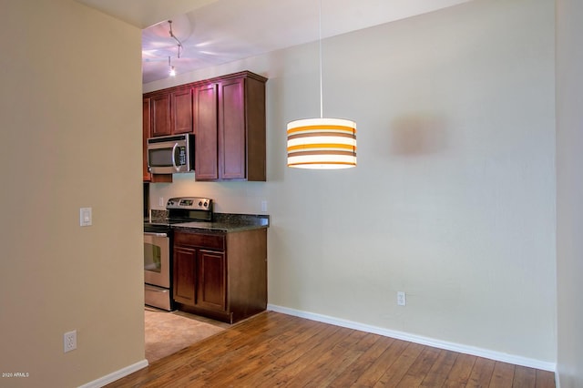
[[[555,387],[554,373],[278,312],[251,319],[107,387]]]

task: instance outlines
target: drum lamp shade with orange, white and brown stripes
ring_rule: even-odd
[[[341,118],[307,118],[288,124],[288,167],[356,166],[356,123]]]

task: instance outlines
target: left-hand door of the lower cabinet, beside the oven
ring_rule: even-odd
[[[197,251],[174,247],[174,301],[194,306],[196,304]]]

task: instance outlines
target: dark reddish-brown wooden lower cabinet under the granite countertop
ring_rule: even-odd
[[[267,230],[174,233],[179,310],[237,322],[267,308]]]

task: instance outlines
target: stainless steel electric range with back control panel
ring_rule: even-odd
[[[160,217],[144,222],[144,296],[149,306],[172,311],[172,225],[212,222],[212,199],[172,198],[160,212]]]

